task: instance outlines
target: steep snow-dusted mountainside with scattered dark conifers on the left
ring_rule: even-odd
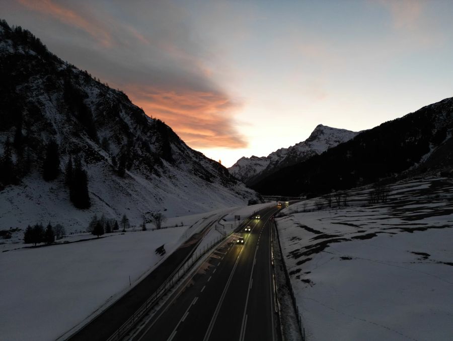
[[[0,22],[2,228],[50,221],[85,230],[94,214],[126,214],[138,225],[156,212],[174,217],[250,199],[255,191],[123,92]]]

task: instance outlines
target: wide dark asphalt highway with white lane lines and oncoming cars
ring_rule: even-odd
[[[133,339],[275,340],[268,220],[279,209],[262,210],[250,233],[221,243]],[[244,244],[236,243],[240,236]]]

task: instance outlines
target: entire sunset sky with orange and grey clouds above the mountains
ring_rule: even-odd
[[[0,0],[0,18],[227,167],[453,96],[449,0]]]

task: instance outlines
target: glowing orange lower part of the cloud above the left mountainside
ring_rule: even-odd
[[[167,91],[125,87],[132,102],[149,116],[165,121],[192,148],[245,148],[246,139],[234,127],[232,114],[239,108],[214,92]]]

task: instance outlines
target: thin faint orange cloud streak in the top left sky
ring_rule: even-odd
[[[105,47],[110,47],[112,45],[112,37],[106,30],[75,13],[73,10],[55,4],[52,0],[18,1],[32,11],[49,15],[63,24],[69,24],[87,32]]]

